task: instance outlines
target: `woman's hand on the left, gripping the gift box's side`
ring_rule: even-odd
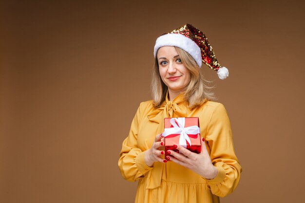
[[[164,154],[163,150],[159,150],[160,147],[164,146],[164,142],[161,134],[156,135],[154,142],[152,143],[152,148],[145,151],[144,162],[147,166],[152,167],[154,162],[167,162],[166,159],[161,159],[160,155]]]

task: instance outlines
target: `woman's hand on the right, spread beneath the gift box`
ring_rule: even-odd
[[[218,170],[215,166],[213,166],[204,142],[204,138],[202,139],[203,141],[201,140],[200,154],[191,152],[190,150],[178,145],[177,149],[181,154],[174,152],[173,150],[168,150],[168,154],[172,156],[167,156],[166,158],[181,166],[189,168],[206,179],[213,179],[216,177]]]

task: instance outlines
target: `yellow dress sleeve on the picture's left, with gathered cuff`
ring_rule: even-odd
[[[152,169],[152,167],[145,164],[145,151],[144,149],[141,150],[137,144],[138,128],[142,117],[141,106],[142,104],[140,104],[138,110],[136,111],[129,135],[122,144],[122,149],[119,155],[120,158],[118,161],[118,166],[123,178],[131,182],[134,182],[139,178],[143,178],[144,175]]]

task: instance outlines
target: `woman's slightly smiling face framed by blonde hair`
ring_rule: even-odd
[[[191,80],[189,70],[182,63],[175,47],[161,47],[158,50],[157,59],[159,74],[168,87],[170,95],[177,96],[177,94],[185,90]]]

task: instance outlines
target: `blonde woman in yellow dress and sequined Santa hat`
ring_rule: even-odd
[[[186,24],[156,40],[153,100],[142,102],[122,144],[118,166],[124,179],[138,180],[135,203],[218,203],[238,184],[229,118],[199,71],[202,62],[224,79],[205,35]],[[164,154],[164,118],[199,117],[201,153],[180,145]]]

